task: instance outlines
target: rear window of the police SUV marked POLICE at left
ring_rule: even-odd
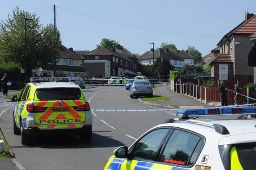
[[[35,100],[79,100],[84,99],[79,88],[43,88],[36,90]]]

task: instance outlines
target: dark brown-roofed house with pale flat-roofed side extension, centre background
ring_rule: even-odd
[[[98,47],[85,55],[84,70],[91,76],[105,77],[108,76],[135,76],[136,64],[118,53],[116,49],[107,49]]]

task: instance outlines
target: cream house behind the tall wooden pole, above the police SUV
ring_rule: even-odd
[[[75,53],[73,48],[68,49],[64,45],[61,45],[56,59],[56,71],[64,71],[69,77],[83,77],[84,74],[86,74],[83,67],[83,58]],[[41,74],[43,76],[53,76],[54,66],[49,65],[46,68],[43,68]]]

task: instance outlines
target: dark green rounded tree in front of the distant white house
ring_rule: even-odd
[[[154,63],[155,73],[159,76],[167,76],[170,74],[170,70],[173,69],[170,60],[166,57],[158,57]]]

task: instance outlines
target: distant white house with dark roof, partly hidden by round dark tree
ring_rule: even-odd
[[[184,59],[178,57],[178,55],[168,51],[168,49],[158,48],[154,51],[154,62],[158,57],[167,57],[170,59],[170,64],[174,66],[174,70],[180,70],[183,66]],[[143,65],[153,64],[153,52],[147,51],[140,56],[140,63]]]

